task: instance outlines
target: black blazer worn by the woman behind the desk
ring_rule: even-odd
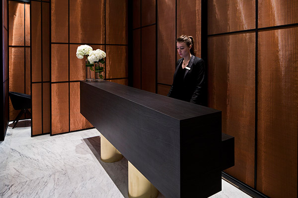
[[[186,69],[183,82],[181,85],[177,83],[176,74],[178,68],[181,67],[183,58],[180,58],[176,64],[176,70],[174,73],[173,84],[168,93],[168,97],[182,99],[184,101],[205,105],[205,64],[204,60],[194,55],[190,57]],[[178,87],[180,86],[180,89]],[[183,93],[181,92],[181,86]],[[180,90],[180,91],[179,91]]]

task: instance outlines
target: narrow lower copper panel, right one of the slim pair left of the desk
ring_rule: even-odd
[[[51,85],[50,83],[42,84],[42,115],[43,115],[43,133],[51,132]]]

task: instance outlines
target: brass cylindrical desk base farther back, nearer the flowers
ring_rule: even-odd
[[[117,150],[102,134],[100,135],[100,159],[104,162],[115,162],[123,158]]]

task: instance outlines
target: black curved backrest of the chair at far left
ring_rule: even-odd
[[[8,92],[12,106],[15,110],[31,108],[31,96],[17,92]]]

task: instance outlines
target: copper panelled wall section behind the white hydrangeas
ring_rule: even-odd
[[[79,81],[85,79],[80,45],[106,52],[104,78],[128,84],[127,0],[51,1],[51,134],[92,125],[80,114]],[[95,102],[95,101],[90,101]]]

